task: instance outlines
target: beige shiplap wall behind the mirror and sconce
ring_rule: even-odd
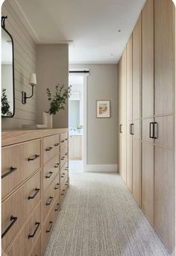
[[[36,93],[27,104],[21,102],[22,90],[31,94],[28,78],[31,72],[36,72],[36,45],[8,0],[2,5],[1,14],[8,16],[5,25],[13,37],[15,62],[15,116],[3,118],[1,125],[2,128],[21,128],[22,124],[36,122]]]

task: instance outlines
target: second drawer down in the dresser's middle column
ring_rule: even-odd
[[[59,173],[59,155],[56,155],[52,158],[44,167],[43,167],[43,190],[47,190],[51,182],[54,180],[56,175]]]

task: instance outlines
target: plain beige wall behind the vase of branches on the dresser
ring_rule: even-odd
[[[57,84],[68,87],[68,45],[37,45],[37,123],[43,122],[43,112],[49,108],[46,88],[54,92]],[[54,115],[53,128],[68,127],[68,105]]]

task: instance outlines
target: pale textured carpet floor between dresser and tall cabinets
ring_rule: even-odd
[[[169,255],[113,173],[71,173],[45,256]]]

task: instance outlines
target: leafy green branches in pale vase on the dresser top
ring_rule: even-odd
[[[46,89],[50,107],[48,111],[43,112],[43,124],[47,125],[47,128],[52,128],[52,116],[60,110],[65,110],[66,99],[71,95],[71,87],[64,89],[64,85],[57,84],[53,96],[51,96],[51,90]]]

